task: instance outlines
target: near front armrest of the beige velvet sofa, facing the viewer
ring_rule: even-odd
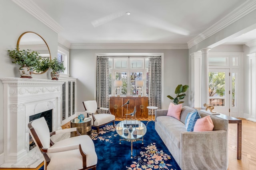
[[[180,164],[183,170],[227,170],[227,132],[182,132],[180,135]]]

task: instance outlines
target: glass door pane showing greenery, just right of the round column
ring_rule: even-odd
[[[229,115],[229,69],[209,69],[209,105]]]

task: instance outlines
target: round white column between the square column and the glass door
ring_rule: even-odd
[[[208,90],[208,51],[210,49],[205,48],[202,49],[202,76],[201,76],[201,106],[204,107],[203,104],[206,103],[208,104],[209,101],[209,90]]]

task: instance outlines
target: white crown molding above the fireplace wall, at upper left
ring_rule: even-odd
[[[42,10],[32,0],[12,0],[15,4],[23,8],[26,12],[34,16],[36,19],[50,27],[56,33],[60,33],[63,27],[60,26],[54,19],[52,19],[44,10]]]

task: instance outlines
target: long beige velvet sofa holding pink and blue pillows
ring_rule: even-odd
[[[210,115],[213,131],[187,132],[184,122],[194,108],[182,107],[180,121],[166,116],[168,109],[155,113],[155,129],[182,170],[227,170],[228,120]],[[209,115],[198,111],[201,117]]]

